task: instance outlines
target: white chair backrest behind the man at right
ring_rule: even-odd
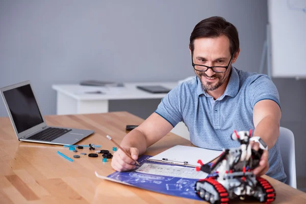
[[[279,127],[278,142],[279,147],[281,148],[285,173],[287,174],[286,184],[296,188],[295,147],[293,133],[285,127]]]

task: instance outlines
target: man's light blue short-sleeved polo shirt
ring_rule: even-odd
[[[162,99],[156,113],[173,127],[183,121],[195,146],[222,150],[240,146],[231,139],[234,130],[254,130],[253,108],[264,99],[273,100],[279,106],[277,89],[267,75],[232,67],[227,87],[216,100],[202,90],[200,80],[194,77],[172,89]],[[269,149],[269,165],[266,175],[286,182],[278,140]]]

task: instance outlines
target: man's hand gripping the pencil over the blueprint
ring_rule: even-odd
[[[132,158],[134,160],[138,159],[139,151],[138,151],[137,148],[134,148],[134,147],[130,147],[130,148],[122,147],[122,148],[124,148],[127,151],[127,153],[132,156]],[[121,149],[118,149],[114,153],[111,165],[112,165],[113,169],[115,169],[116,171],[119,171],[119,172],[120,171],[129,171],[129,170],[134,169],[136,167],[134,160],[132,160],[130,157],[126,156],[125,153]]]

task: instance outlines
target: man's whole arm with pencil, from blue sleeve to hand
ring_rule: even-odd
[[[188,98],[183,86],[184,84],[181,83],[172,89],[162,99],[156,112],[123,138],[120,145],[131,154],[134,160],[137,160],[138,155],[144,154],[147,147],[162,139],[178,122],[183,120],[182,110],[185,110],[185,98]],[[112,159],[112,167],[117,171],[131,170],[135,168],[134,160],[119,149]]]

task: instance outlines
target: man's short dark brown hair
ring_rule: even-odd
[[[224,18],[220,16],[206,18],[195,25],[190,35],[189,48],[193,52],[194,40],[196,38],[216,38],[221,35],[225,35],[230,40],[231,55],[238,52],[238,31],[232,23],[227,22]]]

